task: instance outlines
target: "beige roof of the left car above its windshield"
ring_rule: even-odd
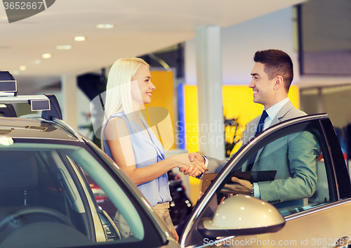
[[[0,136],[79,141],[64,127],[44,119],[0,117]]]

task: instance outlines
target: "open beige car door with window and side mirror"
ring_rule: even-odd
[[[249,196],[249,202],[241,202],[242,197],[227,190],[232,176],[246,171],[252,155],[256,156],[252,171],[277,171],[273,181],[258,182],[260,196],[270,204]],[[343,246],[351,237],[350,188],[327,115],[282,122],[244,145],[220,171],[188,218],[180,246]],[[279,215],[285,226],[279,224]]]

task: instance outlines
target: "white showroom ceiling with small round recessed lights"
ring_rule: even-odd
[[[191,39],[199,26],[227,27],[303,1],[58,0],[46,11],[13,23],[0,8],[0,70],[14,72],[25,65],[27,70],[14,77],[22,92],[35,92],[62,74],[100,70],[118,58],[141,56]],[[104,23],[115,27],[95,27]],[[76,36],[86,41],[74,41]],[[72,49],[59,51],[58,45]],[[52,58],[41,58],[43,53],[51,53]]]

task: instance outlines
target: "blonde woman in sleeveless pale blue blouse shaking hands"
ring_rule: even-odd
[[[151,102],[154,89],[144,60],[122,58],[112,65],[107,80],[102,149],[138,186],[178,240],[168,211],[172,199],[167,171],[178,167],[197,176],[206,167],[190,162],[188,154],[164,158],[163,146],[140,113],[140,107]],[[121,229],[127,226],[118,211],[115,222]],[[128,230],[123,232],[121,235],[128,236]]]

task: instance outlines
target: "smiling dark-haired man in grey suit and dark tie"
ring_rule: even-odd
[[[263,115],[246,126],[243,144],[262,131],[260,126],[264,130],[287,119],[306,115],[293,107],[288,97],[293,81],[293,63],[289,55],[270,49],[257,51],[253,60],[256,63],[249,88],[253,89],[253,102],[262,104],[264,110]],[[234,194],[253,195],[271,203],[292,201],[289,206],[301,204],[303,198],[313,195],[317,184],[319,145],[312,133],[303,131],[286,136],[268,144],[256,155],[244,163],[242,171],[277,170],[274,181],[252,184],[232,177],[234,184],[227,184],[225,188],[230,188]],[[205,161],[198,153],[190,155],[190,160],[194,158]],[[208,173],[219,172],[226,163],[227,160],[208,158]]]

